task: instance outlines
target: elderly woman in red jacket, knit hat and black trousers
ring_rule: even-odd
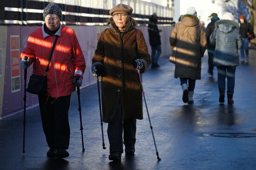
[[[50,148],[47,156],[68,157],[70,97],[75,86],[82,84],[85,59],[74,30],[60,24],[59,6],[48,4],[44,9],[43,19],[45,23],[27,39],[27,46],[20,54],[21,66],[26,69],[34,63],[33,73],[44,75],[54,40],[59,36],[46,74],[47,94],[38,95],[38,100],[43,130]]]

